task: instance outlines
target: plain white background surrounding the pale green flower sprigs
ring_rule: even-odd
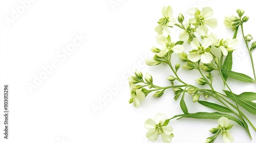
[[[143,74],[148,71],[155,84],[168,85],[165,79],[171,73],[166,66],[148,67],[144,63],[146,57],[154,56],[151,46],[158,45],[154,29],[162,16],[163,6],[172,6],[174,17],[180,12],[186,16],[190,7],[210,6],[219,25],[212,32],[222,38],[232,38],[230,30],[222,24],[224,16],[236,14],[236,9],[242,8],[245,15],[250,16],[245,32],[256,36],[252,33],[256,16],[251,1],[35,0],[8,24],[6,17],[11,18],[12,9],[17,11],[22,6],[20,2],[24,1],[0,2],[0,142],[151,142],[145,137],[144,122],[159,112],[167,114],[168,118],[182,113],[179,101],[174,101],[173,91],[168,90],[159,99],[148,96],[136,109],[127,102],[130,98],[127,76],[140,69]],[[110,2],[118,5],[111,6]],[[178,32],[178,28],[172,29],[172,40],[178,40]],[[62,49],[67,49],[76,34],[87,39],[66,59],[57,56]],[[237,50],[240,54],[234,52],[237,56],[233,70],[252,77],[242,40],[236,48],[240,49]],[[42,67],[50,66],[53,61],[58,66],[30,92],[27,84],[34,84],[34,76],[39,76],[44,72]],[[181,77],[195,84],[199,76],[193,71],[182,71]],[[235,93],[256,91],[253,84],[237,81],[232,84],[232,81]],[[222,84],[221,81],[217,83]],[[2,134],[4,84],[10,87],[8,140]],[[100,109],[93,110],[92,106],[103,104],[102,98],[110,93],[112,98]],[[191,113],[212,111],[191,102],[190,96],[185,99]],[[249,117],[256,125],[255,116]],[[234,142],[256,141],[252,128],[251,140],[243,128],[231,123],[234,124],[230,130]],[[172,120],[169,125],[174,128],[172,142],[197,143],[211,136],[208,130],[217,127],[218,123],[184,118]],[[216,142],[222,142],[222,137],[219,136]]]

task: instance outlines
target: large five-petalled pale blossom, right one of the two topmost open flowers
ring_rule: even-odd
[[[196,26],[196,28],[198,28],[198,34],[200,36],[207,35],[207,26],[210,28],[217,27],[217,19],[210,18],[210,16],[214,14],[210,7],[204,7],[202,11],[200,11],[198,8],[191,8],[187,13],[195,16],[194,18],[190,18],[188,21],[192,25]]]

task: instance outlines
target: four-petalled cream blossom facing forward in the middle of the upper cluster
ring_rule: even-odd
[[[210,63],[212,60],[212,55],[209,53],[209,46],[212,44],[212,41],[209,38],[204,38],[202,44],[199,43],[198,39],[195,38],[194,41],[190,42],[191,47],[194,49],[190,51],[187,55],[187,58],[190,61],[197,62],[201,59],[202,63]]]

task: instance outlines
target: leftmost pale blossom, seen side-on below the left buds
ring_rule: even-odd
[[[136,108],[139,108],[140,101],[145,99],[145,93],[142,92],[142,88],[136,88],[135,84],[129,83],[130,90],[131,90],[131,98],[129,100],[129,103],[133,103],[133,106]]]

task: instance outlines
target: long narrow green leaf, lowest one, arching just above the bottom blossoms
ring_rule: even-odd
[[[179,114],[179,115],[175,115],[174,117],[170,118],[176,118],[176,117],[188,117],[188,118],[203,118],[203,119],[215,119],[218,120],[220,117],[225,116],[227,117],[229,120],[232,120],[236,123],[238,123],[238,125],[242,126],[243,128],[245,128],[244,124],[238,120],[238,118],[229,115],[229,114],[222,114],[219,112],[197,112],[197,113],[188,113],[188,114]]]

